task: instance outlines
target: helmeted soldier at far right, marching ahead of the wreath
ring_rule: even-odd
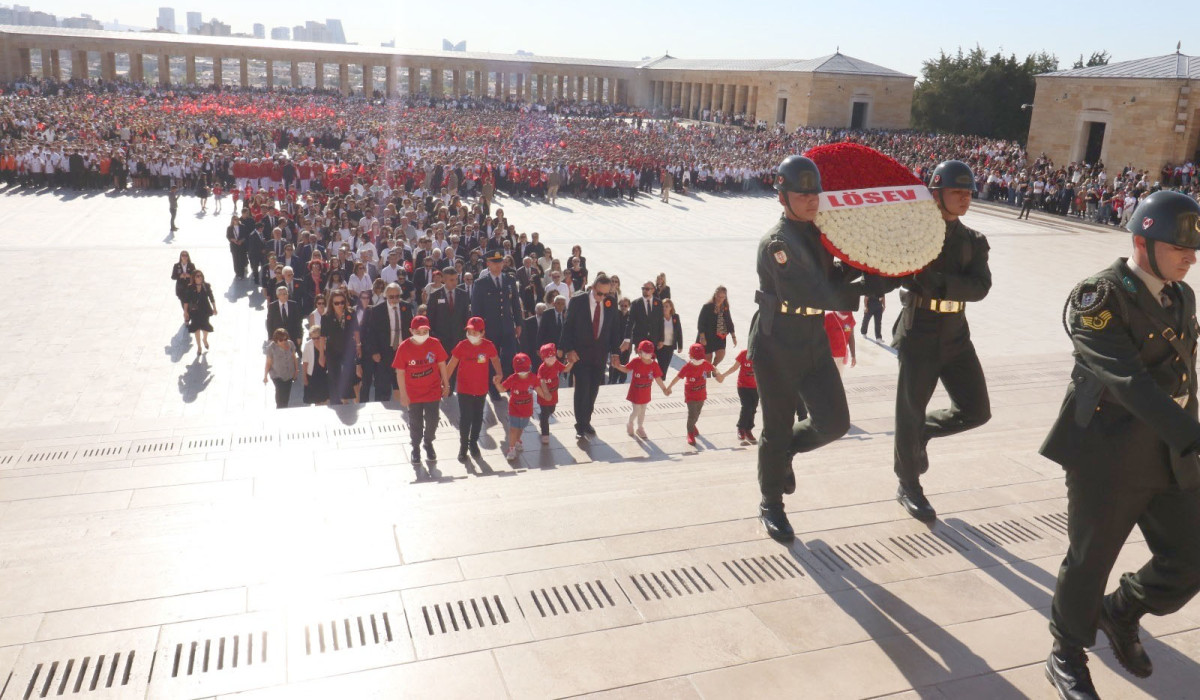
[[[1061,698],[1096,698],[1085,648],[1104,630],[1121,665],[1152,671],[1139,618],[1175,612],[1200,591],[1200,421],[1195,294],[1200,204],[1154,192],[1128,225],[1133,256],[1085,280],[1064,310],[1072,383],[1042,454],[1067,480],[1070,548],[1051,608],[1046,677]],[[1104,594],[1138,525],[1152,557]]]

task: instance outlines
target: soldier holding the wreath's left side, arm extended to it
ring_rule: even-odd
[[[841,375],[829,352],[826,311],[857,311],[862,273],[834,261],[812,223],[821,173],[803,156],[788,156],[775,179],[784,214],[758,243],[758,311],[750,322],[748,355],[758,377],[760,517],[779,542],[794,538],[784,493],[796,491],[792,456],[833,442],[850,430]],[[797,408],[809,417],[793,421]],[[793,424],[794,423],[794,424]]]

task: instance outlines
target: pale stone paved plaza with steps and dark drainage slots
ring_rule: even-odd
[[[770,198],[500,204],[626,293],[666,273],[689,336],[725,285],[745,341]],[[994,418],[930,445],[941,520],[893,499],[895,359],[858,336],[853,426],[796,459],[786,548],[755,517],[732,382],[696,448],[679,394],[635,439],[624,388],[602,389],[580,444],[566,389],[552,443],[515,463],[490,413],[472,473],[451,401],[421,483],[397,406],[275,409],[264,300],[233,280],[228,211],[197,208],[169,235],[164,197],[0,192],[0,700],[1054,696],[1067,504],[1037,448],[1068,381],[1066,294],[1127,234],[977,207],[995,285],[967,313]],[[199,358],[180,250],[218,292]],[[1147,556],[1135,532],[1112,580]],[[1200,603],[1144,624],[1153,677],[1102,635],[1102,695],[1194,698]]]

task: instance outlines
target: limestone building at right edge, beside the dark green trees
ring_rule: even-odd
[[[1158,172],[1198,156],[1200,56],[1181,53],[1037,77],[1030,154]]]

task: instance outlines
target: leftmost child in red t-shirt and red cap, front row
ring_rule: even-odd
[[[430,319],[415,316],[408,328],[413,331],[396,348],[391,360],[400,387],[400,403],[408,408],[408,435],[413,441],[413,465],[416,477],[421,474],[421,442],[425,454],[436,460],[433,438],[438,430],[438,408],[442,397],[449,395],[450,375],[446,372],[446,351],[442,342],[430,336]]]

